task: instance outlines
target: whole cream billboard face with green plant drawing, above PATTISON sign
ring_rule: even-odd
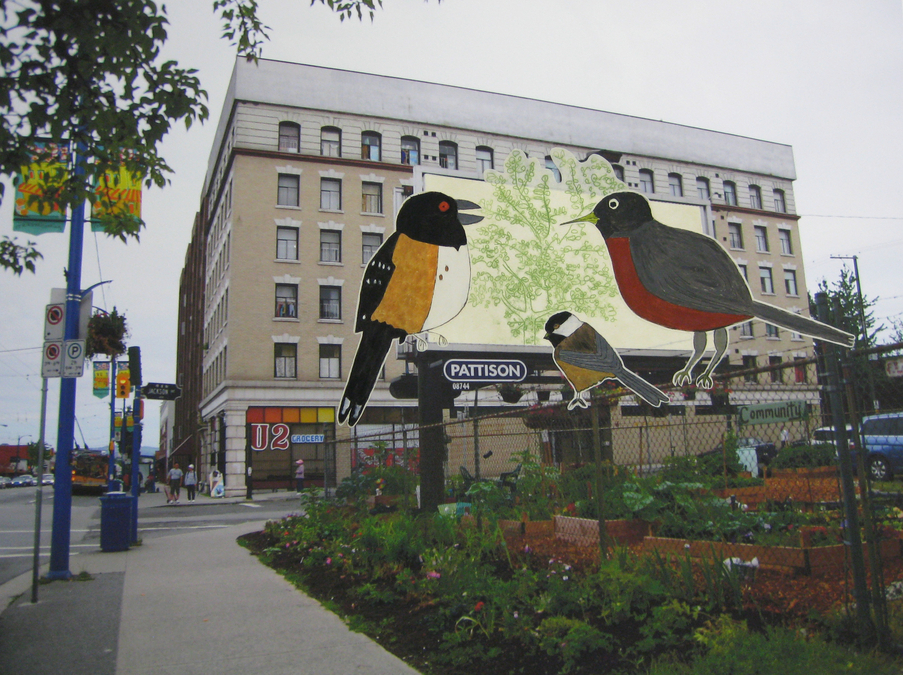
[[[555,149],[552,157],[560,181],[545,162],[520,151],[482,181],[424,172],[424,191],[476,202],[483,216],[465,227],[471,263],[467,304],[437,332],[450,343],[547,347],[546,321],[567,310],[622,353],[692,350],[692,334],[662,328],[630,310],[605,241],[592,224],[563,225],[627,186],[598,155],[581,162]],[[653,201],[652,209],[671,225],[703,232],[700,205]]]

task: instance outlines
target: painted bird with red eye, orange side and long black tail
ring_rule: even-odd
[[[340,424],[357,424],[392,340],[448,323],[467,304],[470,254],[463,226],[483,217],[461,211],[478,208],[441,192],[417,194],[401,205],[395,233],[361,281],[354,327],[361,341],[339,403]]]

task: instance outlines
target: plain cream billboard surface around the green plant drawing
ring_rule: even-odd
[[[513,153],[512,156],[514,157],[516,154],[518,153]],[[519,153],[519,158],[515,157],[513,160],[515,164],[519,161],[525,161],[533,165],[533,178],[529,185],[530,189],[525,190],[524,193],[529,193],[531,198],[533,198],[536,193],[535,188],[540,186],[539,196],[533,198],[534,206],[544,213],[550,215],[558,214],[551,215],[549,218],[551,223],[550,230],[551,228],[558,228],[557,232],[564,236],[568,227],[574,228],[573,232],[576,235],[582,234],[582,237],[580,237],[582,242],[578,240],[570,242],[571,244],[582,245],[586,243],[598,249],[598,253],[592,257],[598,259],[597,264],[600,266],[603,275],[608,275],[608,278],[605,279],[608,283],[605,286],[610,286],[613,293],[600,293],[599,295],[602,297],[600,297],[599,302],[586,305],[583,302],[585,294],[577,287],[579,286],[579,275],[584,268],[581,260],[584,256],[572,253],[566,256],[567,264],[572,264],[578,269],[576,272],[568,275],[568,282],[573,281],[573,283],[566,292],[576,291],[578,298],[574,302],[569,302],[565,298],[557,302],[550,302],[545,306],[537,305],[532,307],[532,311],[537,317],[535,323],[539,325],[539,328],[534,327],[533,330],[514,335],[509,325],[510,319],[505,316],[506,307],[501,301],[496,299],[497,301],[493,302],[492,299],[487,299],[489,301],[482,304],[475,302],[475,284],[473,281],[480,274],[493,273],[492,269],[479,262],[485,253],[485,251],[481,250],[481,243],[485,244],[487,231],[491,231],[491,228],[501,228],[513,239],[520,241],[532,237],[528,227],[513,224],[493,215],[493,212],[497,211],[499,206],[497,195],[500,184],[493,184],[492,180],[504,180],[507,178],[507,169],[510,168],[512,160],[506,162],[506,171],[492,172],[495,176],[487,176],[488,180],[485,181],[424,172],[423,189],[425,191],[440,191],[455,199],[467,199],[476,202],[484,207],[482,215],[485,216],[482,222],[465,228],[472,265],[471,296],[468,303],[458,316],[444,326],[439,327],[435,332],[447,338],[450,343],[545,346],[548,343],[542,340],[543,331],[541,326],[555,312],[567,310],[574,312],[581,319],[591,324],[622,354],[630,353],[631,350],[635,349],[691,351],[693,348],[692,333],[662,328],[639,318],[627,307],[617,291],[617,285],[614,282],[608,252],[602,235],[593,225],[589,223],[575,223],[570,226],[560,225],[589,213],[602,196],[618,189],[628,189],[626,185],[608,182],[608,189],[603,189],[602,191],[594,189],[592,192],[582,191],[580,198],[576,198],[573,190],[570,193],[566,190],[568,182],[571,182],[572,188],[574,186],[574,181],[569,181],[572,176],[568,175],[566,168],[569,161],[574,160],[574,156],[560,149],[554,150],[552,156],[562,171],[561,183],[555,181],[552,172],[546,169],[544,163],[541,163],[539,160],[526,158],[523,153]],[[604,159],[598,156],[593,157],[604,164],[609,172],[611,171],[610,165]],[[583,165],[584,163],[577,162],[576,164]],[[545,178],[545,181],[543,181],[543,178]],[[614,180],[616,181],[616,179]],[[593,182],[598,186],[598,181]],[[547,190],[545,186],[548,187]],[[507,184],[504,187],[510,188]],[[702,233],[702,219],[700,218],[699,206],[657,201],[652,201],[651,205],[652,214],[657,220],[674,227]],[[579,206],[579,208],[575,208],[575,206]],[[555,232],[553,231],[553,235]],[[510,257],[508,262],[511,265],[511,272],[514,274],[522,277],[527,277],[531,274],[531,270],[522,263],[521,259]],[[532,272],[535,273],[535,270],[532,270]],[[543,298],[540,298],[540,300],[543,300]],[[572,306],[580,304],[584,304],[584,306]],[[433,335],[430,339],[435,341],[436,336]]]

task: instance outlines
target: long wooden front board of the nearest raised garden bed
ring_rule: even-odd
[[[889,561],[900,558],[903,546],[900,539],[885,539],[880,543],[881,559]],[[734,544],[720,541],[700,541],[691,539],[670,539],[667,537],[645,537],[643,551],[659,555],[674,555],[679,558],[689,556],[694,560],[740,558],[749,562],[758,558],[765,569],[781,572],[812,574],[842,568],[846,562],[844,544],[831,546],[763,546],[759,544]],[[866,551],[866,555],[867,555]]]

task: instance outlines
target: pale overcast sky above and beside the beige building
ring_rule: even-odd
[[[175,382],[179,274],[234,63],[212,0],[168,4],[166,57],[197,68],[210,121],[176,129],[172,184],[144,195],[147,230],[124,245],[87,234],[82,286],[125,312],[144,380]],[[266,58],[457,85],[664,120],[793,146],[809,287],[859,256],[876,315],[903,314],[903,3],[870,0],[384,0],[371,23],[308,0],[260,0]],[[7,192],[9,194],[9,192]],[[12,235],[0,206],[0,235]],[[22,235],[18,235],[22,238]],[[43,310],[63,287],[68,236],[36,238],[36,275],[0,272],[0,443],[39,432]],[[849,263],[848,263],[849,264]],[[59,380],[46,439],[57,445]],[[109,399],[78,385],[76,439],[105,447]],[[145,445],[156,446],[149,402]]]

